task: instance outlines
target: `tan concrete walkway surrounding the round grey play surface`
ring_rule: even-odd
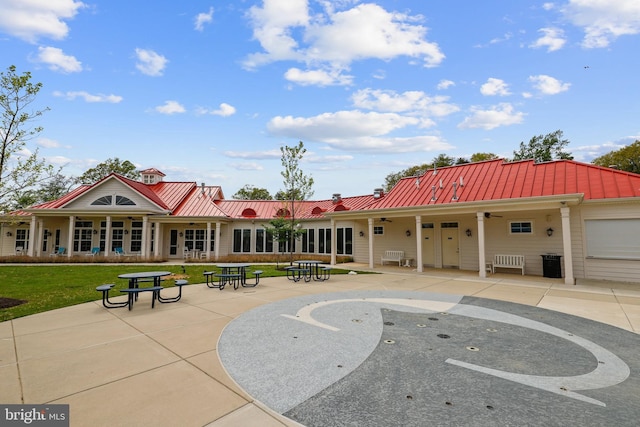
[[[637,285],[569,286],[562,279],[515,274],[480,279],[459,271],[384,271],[334,275],[324,283],[267,278],[256,288],[237,291],[192,284],[184,288],[180,302],[155,309],[150,295],[141,295],[132,311],[107,310],[98,300],[2,322],[0,403],[69,404],[73,426],[297,426],[236,385],[220,363],[217,345],[227,324],[248,310],[320,293],[475,296],[640,331]],[[251,360],[260,363],[259,358]]]

